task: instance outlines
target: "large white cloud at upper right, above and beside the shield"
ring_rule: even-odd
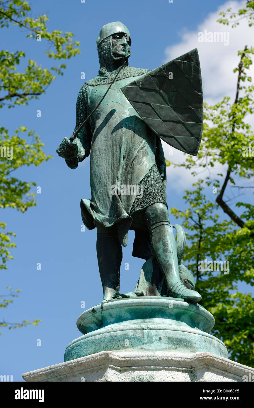
[[[253,28],[248,27],[246,19],[241,20],[240,25],[234,29],[230,25],[219,24],[217,20],[219,11],[226,10],[228,7],[238,10],[244,4],[245,1],[226,2],[217,11],[210,13],[195,31],[183,33],[179,44],[167,47],[165,50],[165,62],[167,62],[197,47],[205,99],[210,98],[217,102],[221,96],[235,95],[237,73],[233,73],[233,69],[240,60],[237,51],[244,49],[245,45],[253,45],[251,43]],[[205,30],[212,33],[229,32],[229,45],[224,45],[223,42],[198,42],[198,33],[204,33]],[[254,74],[254,67],[251,68],[251,73]]]

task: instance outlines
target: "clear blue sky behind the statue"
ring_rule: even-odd
[[[230,3],[239,8],[240,2]],[[196,41],[198,27],[205,24],[209,29],[209,22],[216,21],[214,16],[223,4],[225,2],[220,0],[173,0],[173,3],[167,0],[33,1],[33,16],[46,13],[49,30],[73,32],[75,40],[80,42],[81,54],[67,61],[63,77],[53,81],[39,100],[31,101],[28,106],[1,110],[1,125],[7,127],[10,134],[18,126],[35,130],[45,144],[46,154],[54,158],[39,167],[17,171],[16,176],[21,180],[34,181],[41,187],[41,194],[36,196],[37,206],[24,214],[8,208],[2,210],[1,221],[7,223],[8,231],[16,233],[13,240],[17,248],[12,251],[14,259],[9,262],[7,271],[1,271],[1,295],[7,293],[4,289],[7,286],[22,291],[13,305],[1,310],[0,319],[7,322],[41,319],[42,322],[37,327],[2,328],[0,374],[13,375],[14,381],[20,381],[22,373],[62,362],[66,346],[81,335],[76,327],[77,317],[84,311],[81,302],[85,301],[87,309],[102,299],[96,230],[81,232],[80,199],[90,198],[89,158],[77,169],[71,170],[55,152],[63,137],[72,135],[75,126],[77,94],[84,82],[80,78],[81,72],[85,72],[85,80],[98,73],[96,38],[101,27],[108,22],[122,21],[131,33],[129,64],[154,69],[169,60],[171,53],[174,53],[174,58],[181,55],[183,49],[187,52],[199,48]],[[52,61],[44,55],[47,44],[26,39],[26,34],[18,27],[2,29],[2,48],[14,52],[23,50],[26,60],[32,58],[42,67],[50,68]],[[190,44],[193,36],[196,44],[194,40]],[[243,41],[247,40],[247,31],[241,31],[241,36]],[[228,83],[226,89],[221,89],[216,83],[209,87],[209,69],[212,69],[209,67],[216,65],[215,61],[215,69],[220,66],[221,59],[217,55],[226,48],[221,48],[223,44],[219,46],[212,49],[206,58],[202,53],[201,59],[206,85],[204,97],[210,101],[217,101],[224,91],[232,93],[235,84],[231,87]],[[233,44],[228,49],[234,55]],[[206,65],[207,58],[211,61],[209,67]],[[234,57],[230,60],[231,71],[237,61],[237,55],[236,60]],[[221,68],[217,77],[223,72]],[[212,73],[214,75],[213,70]],[[41,118],[36,116],[38,109],[42,112]],[[178,157],[177,154],[175,157]],[[182,174],[179,183],[177,177],[177,171],[172,171],[172,175],[168,173],[168,204],[182,209],[183,191],[191,184],[184,184],[189,180],[186,173]],[[33,191],[36,192],[36,188]],[[174,221],[171,217],[172,224]],[[131,256],[133,239],[134,233],[130,231],[129,244],[123,248],[121,268],[120,291],[124,293],[134,290],[143,264],[142,259]],[[36,267],[38,262],[42,265],[40,271]],[[129,270],[124,269],[125,262],[129,263]],[[243,290],[251,291],[244,286]],[[37,339],[41,339],[41,346],[37,346]]]

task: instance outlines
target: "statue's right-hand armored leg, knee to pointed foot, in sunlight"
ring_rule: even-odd
[[[145,211],[145,221],[149,229],[153,254],[172,297],[199,302],[201,300],[199,293],[186,288],[180,280],[175,236],[169,224],[169,213],[165,204],[155,203],[149,206]]]

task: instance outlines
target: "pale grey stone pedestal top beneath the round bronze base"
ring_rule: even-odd
[[[166,350],[102,351],[23,374],[25,381],[246,381],[246,378],[254,378],[254,368],[212,353]]]

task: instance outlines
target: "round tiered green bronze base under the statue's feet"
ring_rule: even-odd
[[[198,304],[170,297],[116,299],[85,310],[83,336],[66,348],[64,361],[105,350],[210,352],[228,358],[221,340],[208,334],[214,317]]]

